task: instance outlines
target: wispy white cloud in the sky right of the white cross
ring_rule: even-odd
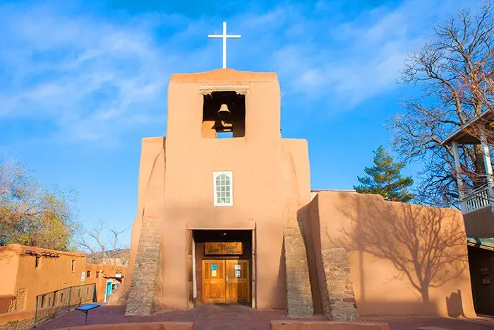
[[[459,1],[404,1],[396,8],[363,11],[335,25],[331,18],[305,22],[306,42],[294,40],[275,53],[285,93],[325,95],[349,110],[396,89],[406,54],[431,33],[430,24],[459,8]],[[324,4],[318,2],[317,7]],[[325,34],[324,31],[331,32]],[[338,111],[338,110],[336,110]]]

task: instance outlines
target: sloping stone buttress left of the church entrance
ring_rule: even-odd
[[[159,308],[162,278],[161,228],[159,218],[143,216],[126,315],[150,315]]]

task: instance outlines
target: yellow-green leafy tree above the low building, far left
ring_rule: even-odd
[[[47,189],[13,162],[0,162],[0,246],[71,249],[78,228],[71,194]]]

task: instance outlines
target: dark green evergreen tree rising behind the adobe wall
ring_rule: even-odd
[[[404,163],[393,163],[393,159],[385,148],[379,146],[374,153],[374,166],[366,167],[366,177],[357,177],[359,186],[354,189],[361,194],[379,194],[387,201],[402,201],[404,203],[414,198],[409,187],[414,184],[411,177],[402,177],[400,171]]]

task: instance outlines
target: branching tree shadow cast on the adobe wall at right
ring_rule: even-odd
[[[430,305],[430,288],[440,288],[466,270],[466,236],[454,211],[345,195],[335,207],[350,220],[337,237],[327,233],[332,244],[390,261],[397,272],[390,273],[389,281],[405,278],[424,305]],[[365,292],[363,272],[361,276]],[[464,315],[460,290],[446,299],[450,316]]]

